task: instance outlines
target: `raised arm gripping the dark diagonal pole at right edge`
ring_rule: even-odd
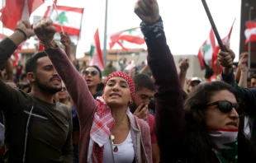
[[[245,102],[245,112],[249,116],[254,116],[256,114],[256,88],[247,89],[238,86],[237,82],[235,81],[235,76],[232,68],[235,54],[231,49],[226,46],[225,49],[226,52],[220,51],[218,55],[220,64],[224,68],[221,74],[222,80],[233,86],[235,90],[238,91],[239,97],[243,102]]]

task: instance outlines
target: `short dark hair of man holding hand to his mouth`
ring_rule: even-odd
[[[143,88],[155,91],[152,79],[145,73],[136,74],[135,77],[133,77],[133,81],[135,82],[135,91],[140,91]]]

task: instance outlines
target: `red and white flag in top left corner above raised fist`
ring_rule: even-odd
[[[44,0],[7,0],[1,9],[0,21],[4,27],[15,30],[17,21],[29,20],[31,13],[43,3]]]

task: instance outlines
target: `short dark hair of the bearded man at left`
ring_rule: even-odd
[[[45,51],[38,52],[37,54],[32,55],[31,58],[26,60],[26,73],[36,72],[37,60],[39,58],[47,57]]]

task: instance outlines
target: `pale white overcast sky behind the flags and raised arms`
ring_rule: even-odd
[[[2,4],[2,0],[0,2]],[[83,57],[83,52],[90,49],[97,27],[103,46],[105,2],[105,0],[59,0],[58,2],[58,5],[84,7],[82,34],[77,49],[78,58]],[[135,2],[136,0],[108,0],[108,34],[140,26],[140,19],[134,13]],[[175,55],[197,54],[211,30],[201,0],[158,0],[158,2],[172,53]],[[241,0],[207,0],[206,2],[221,38],[228,35],[230,26],[236,18],[230,48],[238,55]],[[47,0],[45,5],[36,10],[34,14],[43,16],[46,4],[50,3],[51,0]],[[1,22],[0,26],[2,26]],[[135,47],[138,48],[138,46]],[[238,57],[235,60],[237,61]]]

